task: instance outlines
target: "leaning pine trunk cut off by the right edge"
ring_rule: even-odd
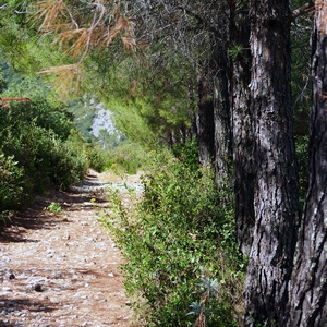
[[[308,189],[299,232],[287,326],[327,326],[327,1],[316,0]]]

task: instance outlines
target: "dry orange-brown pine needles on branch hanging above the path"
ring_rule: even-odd
[[[55,74],[56,87],[69,89],[71,83],[81,86],[83,68],[93,50],[107,49],[121,41],[122,49],[133,53],[137,50],[135,24],[121,13],[119,4],[110,1],[46,0],[35,4],[35,24],[44,35],[53,35],[53,45],[75,63],[46,69],[39,74]]]

